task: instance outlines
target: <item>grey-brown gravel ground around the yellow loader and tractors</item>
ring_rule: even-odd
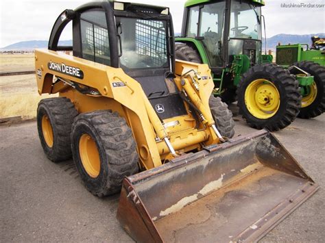
[[[235,120],[237,135],[254,131]],[[321,188],[261,242],[324,242],[324,124],[323,114],[275,133]],[[36,122],[1,125],[0,133],[0,242],[132,242],[115,218],[119,195],[98,199],[72,161],[49,162]]]

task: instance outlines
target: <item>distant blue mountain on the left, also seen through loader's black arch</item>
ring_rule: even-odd
[[[47,48],[48,44],[49,42],[47,40],[21,41],[10,44],[7,47],[3,47],[0,49],[0,51],[34,50],[36,48]],[[62,46],[71,46],[72,40],[61,40],[59,44]]]

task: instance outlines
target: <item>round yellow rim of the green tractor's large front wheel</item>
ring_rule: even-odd
[[[280,93],[267,79],[256,79],[245,90],[245,105],[256,118],[271,118],[280,107]]]

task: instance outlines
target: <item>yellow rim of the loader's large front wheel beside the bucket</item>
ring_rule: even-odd
[[[96,178],[100,170],[99,151],[96,142],[88,134],[83,134],[79,140],[79,153],[82,166],[90,177]]]

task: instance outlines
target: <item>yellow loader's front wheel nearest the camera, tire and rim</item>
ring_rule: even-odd
[[[139,171],[132,131],[116,112],[99,110],[77,116],[71,143],[75,166],[95,196],[119,192],[123,178]]]

